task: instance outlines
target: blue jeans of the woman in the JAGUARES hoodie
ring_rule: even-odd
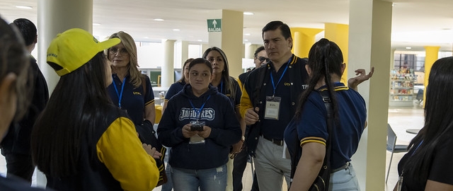
[[[226,164],[217,168],[192,170],[185,168],[171,167],[171,179],[173,190],[187,191],[224,191],[226,188]]]

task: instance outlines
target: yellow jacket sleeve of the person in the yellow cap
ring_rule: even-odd
[[[159,180],[154,158],[142,147],[131,120],[119,117],[96,144],[99,160],[105,164],[123,190],[153,190]]]

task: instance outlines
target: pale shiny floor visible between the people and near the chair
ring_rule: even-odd
[[[394,129],[396,136],[398,137],[396,140],[396,144],[408,144],[415,134],[408,134],[406,129],[419,129],[423,127],[424,117],[423,117],[423,109],[420,105],[414,103],[413,107],[398,107],[398,108],[389,108],[389,124]],[[386,152],[386,170],[389,166],[390,160],[390,152]],[[398,161],[404,153],[397,153],[394,154],[394,158],[391,163],[391,169],[389,173],[389,180],[386,184],[386,190],[392,190],[394,185],[396,184],[396,180],[398,180],[398,173],[396,167],[398,165]],[[35,173],[36,174],[36,173]],[[6,176],[6,162],[4,156],[0,155],[0,175]],[[243,190],[251,190],[251,183],[252,183],[252,171],[250,163],[247,164],[247,168],[244,171],[243,175],[243,183],[244,188]],[[285,181],[284,181],[285,182]],[[36,175],[33,175],[33,186],[36,185]],[[161,190],[160,187],[157,187],[154,190]],[[286,190],[286,185],[284,185],[283,190]]]

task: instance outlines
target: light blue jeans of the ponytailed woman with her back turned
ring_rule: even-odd
[[[328,190],[357,190],[360,191],[359,181],[355,176],[355,170],[349,163],[349,168],[331,173]]]

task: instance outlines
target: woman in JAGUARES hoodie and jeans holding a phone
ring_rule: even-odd
[[[189,82],[168,100],[157,133],[171,146],[173,189],[225,190],[226,162],[241,127],[229,98],[210,86],[212,66],[206,59],[189,64]]]

